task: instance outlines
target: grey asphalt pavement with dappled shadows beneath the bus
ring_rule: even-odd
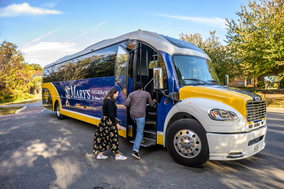
[[[179,165],[166,148],[140,148],[119,138],[125,161],[97,160],[92,144],[96,126],[58,120],[44,110],[0,121],[0,188],[284,188],[284,113],[267,113],[266,147],[235,161]]]

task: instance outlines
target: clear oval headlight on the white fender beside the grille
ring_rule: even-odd
[[[208,110],[208,115],[213,120],[219,121],[238,121],[240,120],[235,112],[212,108]]]

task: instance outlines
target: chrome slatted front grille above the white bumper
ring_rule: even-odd
[[[266,117],[266,101],[247,101],[247,121],[252,122]]]

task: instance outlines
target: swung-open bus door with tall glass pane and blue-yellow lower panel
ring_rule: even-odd
[[[117,118],[122,121],[121,130],[118,131],[119,135],[127,138],[127,107],[124,102],[127,97],[127,75],[128,75],[128,60],[129,53],[127,50],[118,45],[116,62],[115,62],[115,88],[118,89],[118,97],[116,98]]]

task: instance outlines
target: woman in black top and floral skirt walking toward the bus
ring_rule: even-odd
[[[127,159],[127,157],[120,155],[118,151],[118,131],[121,129],[121,126],[118,124],[120,120],[117,119],[116,114],[116,97],[118,97],[118,90],[113,87],[103,98],[103,117],[94,137],[93,153],[99,153],[97,156],[98,160],[108,158],[108,156],[103,155],[105,150],[111,150],[115,154],[116,160]]]

